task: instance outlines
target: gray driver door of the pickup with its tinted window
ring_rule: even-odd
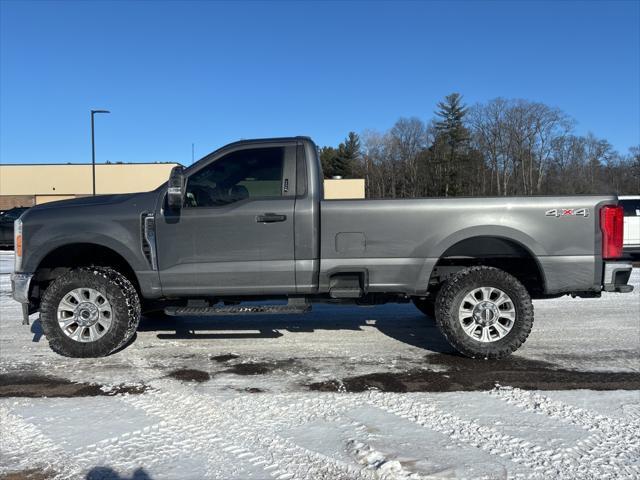
[[[163,293],[294,293],[295,166],[295,143],[269,142],[187,170],[183,208],[157,222]]]

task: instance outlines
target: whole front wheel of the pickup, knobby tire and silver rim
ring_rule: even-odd
[[[108,267],[82,267],[60,275],[40,304],[51,349],[66,357],[103,357],[133,337],[140,300],[131,282]]]

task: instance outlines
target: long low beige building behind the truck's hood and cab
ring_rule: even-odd
[[[169,178],[175,163],[96,165],[96,193],[145,192]],[[90,164],[0,165],[0,210],[91,195]],[[364,180],[325,180],[326,199],[364,198]]]

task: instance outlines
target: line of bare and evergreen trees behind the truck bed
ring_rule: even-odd
[[[364,178],[371,198],[640,193],[640,145],[619,153],[574,126],[540,102],[469,107],[452,93],[428,122],[400,118],[386,132],[350,132],[322,147],[320,159],[326,178]]]

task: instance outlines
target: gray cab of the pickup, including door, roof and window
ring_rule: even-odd
[[[318,168],[306,168],[314,148],[301,138],[245,141],[177,167],[175,198],[159,196],[154,209],[163,294],[314,291],[322,195]]]

